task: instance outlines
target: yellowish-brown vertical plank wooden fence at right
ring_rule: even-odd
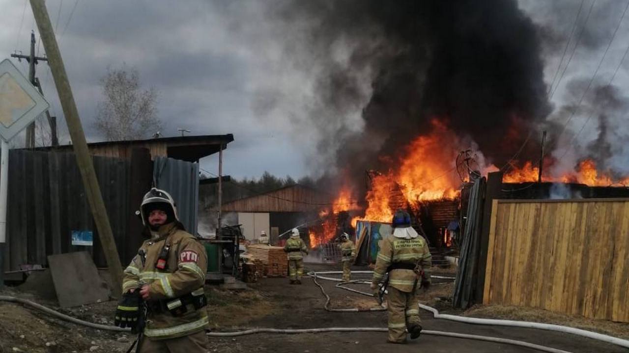
[[[629,198],[494,200],[485,304],[629,322]]]

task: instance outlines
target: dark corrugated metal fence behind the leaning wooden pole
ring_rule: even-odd
[[[130,162],[94,157],[120,258],[126,262],[125,242],[132,210],[128,206]],[[9,198],[4,268],[20,264],[47,264],[50,254],[88,251],[97,266],[106,266],[104,254],[85,196],[81,174],[72,153],[9,151]],[[92,231],[94,246],[72,246],[72,231]],[[139,241],[139,239],[135,239]]]

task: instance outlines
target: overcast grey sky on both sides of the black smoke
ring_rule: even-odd
[[[14,50],[27,53],[30,31],[37,33],[27,3],[27,0],[0,0],[1,59],[8,58]],[[289,54],[286,43],[301,37],[275,26],[268,16],[269,3],[272,2],[48,0],[48,12],[57,29],[57,40],[88,141],[101,141],[92,126],[96,103],[101,99],[98,80],[108,67],[126,65],[138,70],[145,87],[159,90],[158,109],[164,121],[164,136],[176,136],[177,128],[189,129],[192,134],[234,134],[235,142],[229,144],[225,153],[225,174],[237,178],[260,176],[265,170],[294,178],[320,174],[321,170],[313,170],[308,162],[316,151],[318,137],[311,136],[308,124],[297,123],[299,117],[289,113],[308,106],[313,99],[309,82],[316,69],[304,71],[286,64],[284,57]],[[549,119],[565,121],[561,107],[580,100],[627,3],[598,0],[587,18],[591,4],[593,0],[584,0],[582,6],[577,0],[520,1],[520,7],[532,16],[544,37],[548,84],[555,77],[581,6],[574,36],[585,30],[574,55],[574,38],[563,55],[564,65],[569,57],[573,58],[552,94],[555,112]],[[626,17],[598,69],[595,85],[608,82],[629,45],[629,16]],[[38,50],[43,55],[42,46],[38,45]],[[25,62],[14,60],[14,63],[24,73],[28,72]],[[629,88],[628,68],[629,59],[614,80],[619,92]],[[559,73],[563,69],[560,67]],[[45,63],[38,65],[38,77],[51,103],[52,114],[62,117]],[[585,83],[579,85],[579,82]],[[272,116],[257,116],[254,107],[260,103],[259,93],[271,87],[278,92],[274,99],[281,100],[279,106],[286,109],[276,109]],[[587,101],[586,97],[583,103]],[[626,131],[625,109],[622,106],[612,117],[618,131]],[[348,120],[355,129],[361,128],[359,112],[357,107],[355,116]],[[568,128],[579,131],[587,116],[587,112],[576,114]],[[63,119],[60,124],[60,142],[66,144],[69,135]],[[593,121],[583,129],[577,143],[586,146],[596,136],[597,126]],[[571,153],[566,158],[571,158]],[[618,164],[627,165],[629,151],[621,149],[616,159]],[[205,158],[201,168],[216,173],[216,160],[216,157]],[[626,168],[629,170],[629,166]]]

